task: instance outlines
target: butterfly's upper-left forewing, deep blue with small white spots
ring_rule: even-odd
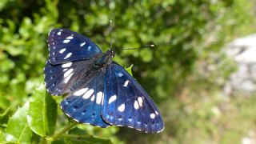
[[[49,62],[54,65],[90,59],[102,53],[89,38],[66,29],[50,30],[48,46]]]

